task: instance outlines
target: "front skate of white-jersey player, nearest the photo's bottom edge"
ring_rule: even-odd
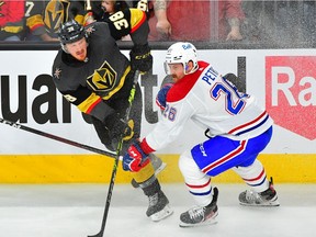
[[[215,217],[218,215],[217,208],[218,190],[214,188],[214,195],[207,206],[194,206],[180,215],[180,227],[195,227],[212,225],[217,223]]]

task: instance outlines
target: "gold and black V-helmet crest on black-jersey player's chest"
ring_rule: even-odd
[[[88,84],[94,91],[111,91],[116,84],[116,72],[115,70],[104,61],[104,64],[93,75],[87,79]]]

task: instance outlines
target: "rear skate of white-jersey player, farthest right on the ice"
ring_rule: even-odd
[[[257,193],[252,190],[246,190],[239,194],[239,203],[248,206],[279,206],[276,192],[273,188],[271,178],[270,187],[268,190]]]

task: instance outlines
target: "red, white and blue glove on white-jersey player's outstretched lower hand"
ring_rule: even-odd
[[[138,172],[149,163],[148,154],[145,154],[139,142],[133,143],[123,156],[123,169],[125,171]]]

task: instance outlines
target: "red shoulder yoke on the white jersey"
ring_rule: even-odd
[[[195,72],[184,76],[171,87],[167,94],[167,102],[182,100],[193,88],[204,69],[210,65],[206,61],[198,61],[198,64],[199,69]]]

